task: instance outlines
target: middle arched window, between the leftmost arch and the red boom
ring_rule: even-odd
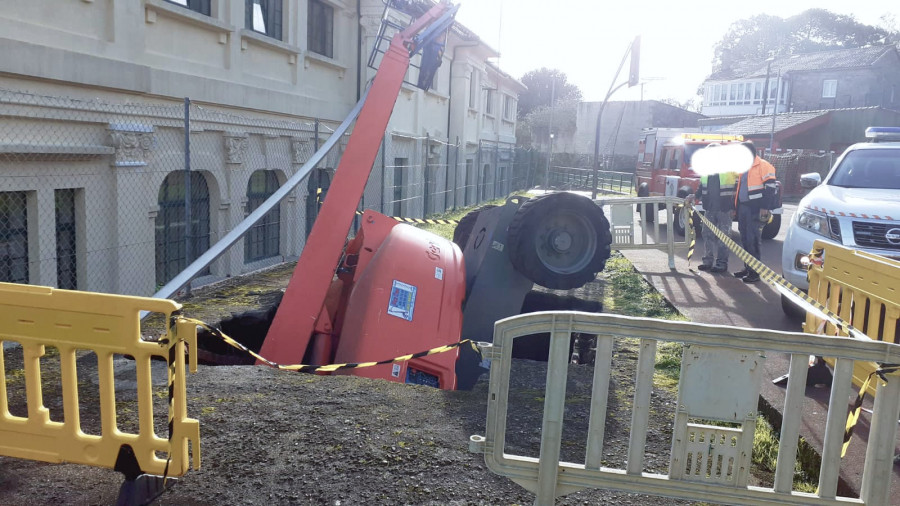
[[[247,183],[247,214],[252,213],[278,189],[278,177],[271,170],[258,170]],[[244,237],[244,263],[277,256],[281,241],[281,209],[275,206]]]

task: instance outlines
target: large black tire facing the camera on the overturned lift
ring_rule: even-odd
[[[574,193],[533,198],[509,224],[507,246],[513,267],[551,289],[578,288],[606,266],[612,236],[603,210]]]

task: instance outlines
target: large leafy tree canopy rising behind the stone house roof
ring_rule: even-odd
[[[732,23],[716,43],[713,72],[745,60],[863,47],[896,39],[897,33],[889,21],[882,19],[882,25],[866,25],[853,15],[825,9],[808,9],[787,19],[758,14]]]

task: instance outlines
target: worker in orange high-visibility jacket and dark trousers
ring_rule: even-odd
[[[750,170],[741,174],[738,180],[734,204],[737,208],[741,246],[759,260],[762,229],[772,218],[772,207],[775,203],[775,167],[757,156],[753,141],[744,141],[742,144],[753,154],[753,165]],[[744,283],[759,281],[759,273],[751,269],[746,262],[743,270],[735,272],[734,277],[742,279]]]

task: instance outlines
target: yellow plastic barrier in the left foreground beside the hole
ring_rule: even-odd
[[[0,283],[0,341],[18,342],[24,358],[27,416],[9,410],[6,370],[0,350],[0,454],[46,462],[72,462],[114,468],[119,451],[131,447],[140,472],[182,476],[200,467],[200,425],[187,418],[185,345],[190,370],[197,370],[196,326],[172,319],[181,306],[173,301],[57,290]],[[170,322],[159,342],[141,339],[141,311],[162,313]],[[5,343],[3,343],[5,344]],[[63,419],[51,420],[42,397],[41,357],[45,347],[59,350]],[[100,394],[100,434],[82,431],[76,352],[94,352]],[[113,357],[133,357],[137,376],[137,433],[117,424]],[[154,430],[151,358],[168,364],[168,434]],[[96,407],[91,407],[92,411]],[[163,414],[165,416],[165,414]],[[56,417],[55,417],[56,418]],[[191,444],[189,447],[188,444]]]

